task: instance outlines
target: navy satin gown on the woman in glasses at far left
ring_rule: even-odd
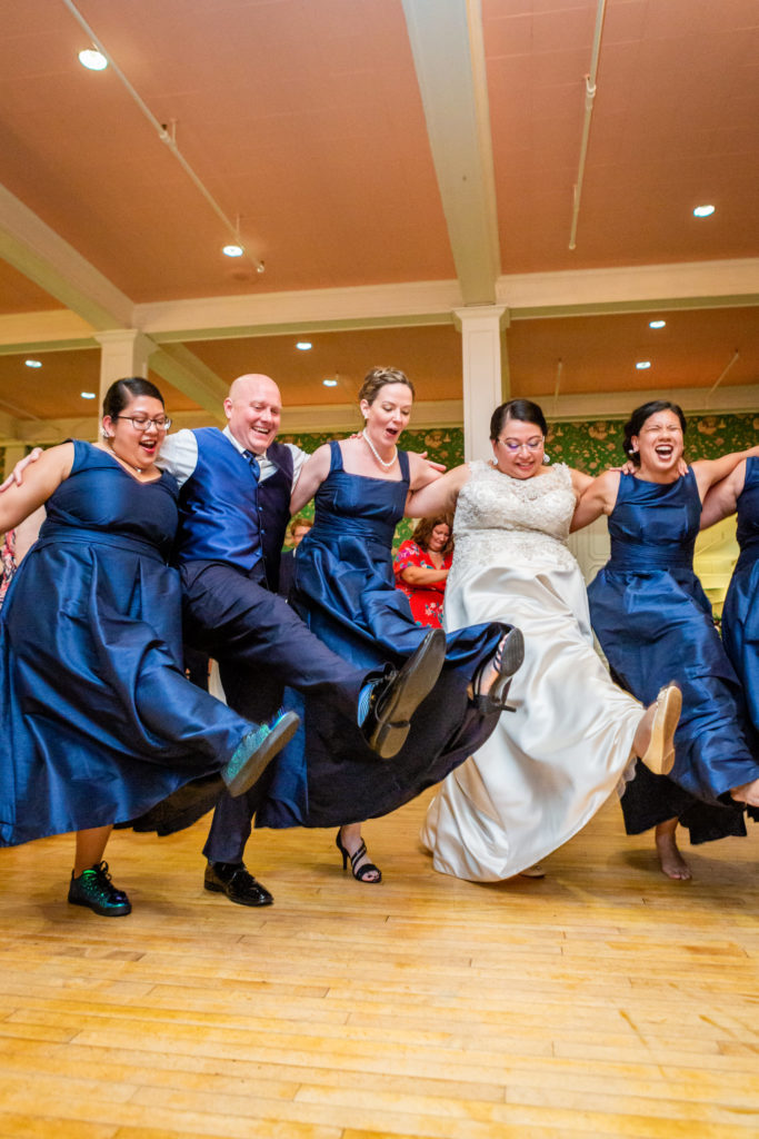
[[[0,845],[132,819],[250,729],[184,677],[176,494],[74,441],[0,612]]]

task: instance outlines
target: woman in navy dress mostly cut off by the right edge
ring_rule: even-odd
[[[723,640],[745,699],[748,737],[759,757],[759,458],[740,462],[707,494],[701,528],[737,510],[741,555],[723,606]]]

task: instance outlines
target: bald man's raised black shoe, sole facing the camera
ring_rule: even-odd
[[[369,746],[383,760],[406,741],[411,718],[435,688],[445,662],[445,633],[430,629],[402,669],[393,669],[374,683],[369,712],[361,728]]]

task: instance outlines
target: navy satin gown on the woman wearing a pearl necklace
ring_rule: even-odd
[[[418,625],[409,599],[395,588],[391,543],[409,491],[409,457],[398,452],[403,478],[390,482],[343,469],[331,445],[328,477],[315,495],[314,526],[295,559],[295,608],[325,645],[366,670],[409,657],[429,630]],[[269,793],[256,814],[265,827],[339,826],[387,814],[409,802],[480,747],[497,723],[467,696],[480,664],[509,629],[498,622],[449,633],[446,662],[421,704],[401,752],[378,760],[355,724],[327,702],[288,691],[302,729],[272,764]]]

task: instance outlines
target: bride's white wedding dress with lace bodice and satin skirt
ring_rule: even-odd
[[[459,494],[446,630],[509,621],[525,663],[487,744],[429,805],[422,842],[436,870],[510,878],[572,837],[625,777],[642,706],[593,647],[585,583],[566,540],[575,510],[563,464],[519,480],[470,464]]]

